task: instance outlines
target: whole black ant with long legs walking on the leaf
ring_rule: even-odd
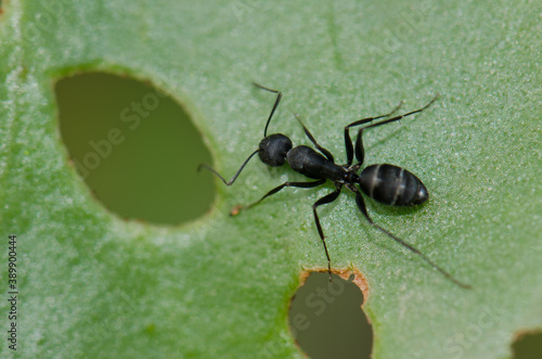
[[[318,144],[317,140],[314,140],[314,137],[309,132],[307,127],[305,127],[305,125],[301,123],[299,116],[296,114],[294,115],[297,118],[297,120],[301,124],[305,134],[307,134],[309,140],[314,144],[314,146],[317,148],[318,151],[320,151],[320,153],[307,145],[298,145],[294,148],[291,139],[282,133],[273,133],[267,136],[271,118],[273,117],[273,114],[276,107],[279,106],[279,103],[281,102],[282,92],[269,89],[258,84],[254,84],[254,86],[262,90],[276,93],[276,100],[274,102],[273,108],[271,110],[268,121],[266,124],[266,128],[263,130],[263,140],[261,140],[258,150],[256,150],[248,156],[248,158],[243,163],[243,165],[241,165],[237,172],[229,181],[227,181],[215,169],[212,169],[207,165],[199,165],[198,169],[205,167],[209,169],[212,174],[215,174],[218,178],[220,178],[222,182],[224,182],[227,185],[231,185],[238,177],[243,168],[245,168],[246,164],[250,161],[250,158],[253,158],[255,154],[258,154],[260,159],[266,165],[272,167],[280,167],[287,162],[292,167],[292,169],[294,169],[295,171],[308,178],[315,179],[315,181],[311,182],[285,182],[269,191],[259,201],[248,206],[245,206],[244,208],[257,205],[266,197],[275,194],[285,187],[308,189],[322,185],[327,180],[333,181],[336,190],[321,197],[312,205],[312,211],[314,214],[314,220],[317,222],[318,233],[320,234],[320,239],[322,240],[322,243],[324,245],[325,256],[327,257],[327,271],[330,272],[330,280],[332,275],[331,259],[330,259],[330,254],[327,253],[327,246],[324,240],[324,232],[322,231],[322,226],[320,225],[320,219],[318,217],[317,208],[321,205],[328,204],[337,200],[337,197],[340,194],[340,191],[343,190],[343,187],[345,187],[346,189],[354,193],[356,204],[358,205],[362,215],[369,220],[369,222],[374,228],[385,233],[393,241],[400,243],[402,246],[414,252],[416,255],[422,257],[422,259],[428,262],[434,269],[438,270],[440,273],[442,273],[449,280],[453,281],[455,284],[464,289],[470,289],[470,285],[457,281],[449,272],[447,272],[446,270],[437,266],[435,262],[433,262],[426,255],[420,252],[420,249],[408,244],[403,240],[397,238],[395,234],[390,233],[386,229],[373,222],[373,220],[367,214],[365,201],[363,200],[361,192],[356,187],[356,184],[358,184],[361,191],[365,193],[365,195],[367,195],[369,197],[390,206],[416,206],[428,200],[429,194],[424,183],[422,183],[422,181],[416,176],[414,176],[404,168],[388,164],[378,164],[365,167],[360,175],[358,175],[357,172],[361,169],[364,158],[364,149],[362,139],[363,130],[398,121],[406,116],[421,113],[422,111],[429,107],[438,99],[439,97],[438,94],[435,98],[433,98],[431,101],[429,101],[429,103],[427,103],[422,108],[409,112],[404,115],[391,117],[378,123],[373,123],[376,119],[387,118],[393,115],[401,107],[402,104],[401,103],[389,114],[377,117],[367,117],[359,119],[357,121],[351,123],[350,125],[347,125],[345,127],[345,146],[346,146],[347,164],[337,165],[335,163],[335,158],[330,153],[330,151]],[[352,144],[352,140],[350,138],[350,128],[362,125],[365,126],[358,131],[358,138],[356,140],[356,148],[354,148]],[[352,165],[354,155],[358,163]],[[236,210],[238,211],[240,208],[236,208]]]

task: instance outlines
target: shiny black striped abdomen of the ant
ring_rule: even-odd
[[[415,206],[429,198],[427,189],[416,176],[393,165],[365,167],[359,184],[367,196],[390,206]]]

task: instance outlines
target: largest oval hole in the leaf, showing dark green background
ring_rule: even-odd
[[[138,80],[90,73],[55,86],[62,139],[98,200],[120,217],[178,225],[208,210],[208,149],[189,115]]]

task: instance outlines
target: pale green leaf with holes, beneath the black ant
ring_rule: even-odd
[[[7,236],[16,234],[21,357],[301,357],[289,298],[301,268],[326,265],[311,205],[332,185],[288,189],[228,216],[301,179],[257,161],[232,188],[217,182],[212,213],[191,225],[125,222],[105,210],[56,128],[52,84],[85,69],[147,79],[179,99],[227,177],[258,145],[274,101],[250,81],[284,92],[271,132],[307,143],[292,108],[339,162],[346,124],[400,100],[417,108],[439,92],[423,114],[365,133],[366,163],[413,171],[429,203],[367,206],[474,290],[372,229],[346,192],[320,211],[333,266],[367,278],[374,358],[504,358],[515,332],[542,328],[540,4],[2,5],[1,251],[7,266]],[[14,356],[5,339],[0,350]]]

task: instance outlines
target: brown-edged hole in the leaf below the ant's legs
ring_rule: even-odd
[[[330,282],[327,272],[310,272],[292,299],[289,329],[312,359],[371,357],[373,330],[361,309],[363,293],[358,286],[364,281],[361,273],[341,275],[348,280],[333,274]]]

